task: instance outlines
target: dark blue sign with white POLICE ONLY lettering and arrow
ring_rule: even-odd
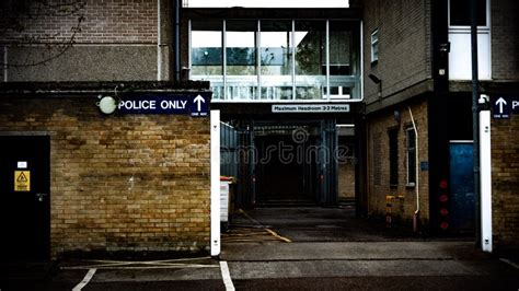
[[[207,116],[209,93],[126,97],[117,104],[120,114],[175,114]]]

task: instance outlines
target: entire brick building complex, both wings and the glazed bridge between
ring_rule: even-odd
[[[210,248],[209,108],[239,207],[355,200],[472,236],[468,2],[0,4],[2,255]],[[518,4],[478,3],[493,238],[517,249]]]

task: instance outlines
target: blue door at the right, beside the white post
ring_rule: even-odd
[[[474,159],[472,142],[450,143],[450,208],[454,231],[474,230]]]

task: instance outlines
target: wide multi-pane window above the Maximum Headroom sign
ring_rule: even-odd
[[[212,101],[358,100],[355,21],[191,21],[191,77]]]

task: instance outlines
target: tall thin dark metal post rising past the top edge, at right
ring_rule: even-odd
[[[480,115],[477,100],[477,0],[471,0],[471,50],[472,50],[472,135],[474,147],[474,198],[475,198],[475,243],[481,247],[481,203],[480,203]]]

